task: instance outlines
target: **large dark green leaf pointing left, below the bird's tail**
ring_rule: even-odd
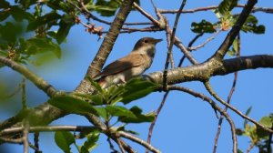
[[[49,104],[58,107],[66,112],[75,114],[93,113],[97,116],[96,108],[88,102],[76,97],[53,97],[49,100]]]

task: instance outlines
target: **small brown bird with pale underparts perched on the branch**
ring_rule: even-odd
[[[142,75],[152,65],[156,45],[162,39],[143,37],[136,42],[133,50],[103,68],[94,80],[102,88],[125,84],[129,79]]]

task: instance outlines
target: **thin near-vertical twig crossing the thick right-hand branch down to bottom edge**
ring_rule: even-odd
[[[238,53],[237,56],[240,56],[240,35],[238,34]],[[233,83],[232,83],[232,87],[229,91],[228,97],[227,97],[227,103],[230,103],[231,97],[235,91],[235,87],[236,87],[236,83],[237,83],[237,79],[238,79],[238,72],[234,73],[234,79],[233,79]],[[227,107],[225,107],[224,111],[227,112]],[[217,142],[218,142],[218,138],[220,136],[220,132],[221,132],[221,128],[222,128],[222,122],[223,122],[223,116],[221,115],[221,117],[218,120],[218,128],[217,128],[217,134],[215,137],[215,143],[214,143],[214,148],[213,148],[213,153],[217,153]]]

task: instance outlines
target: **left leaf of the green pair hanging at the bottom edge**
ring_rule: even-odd
[[[65,153],[70,153],[70,145],[75,143],[75,138],[70,132],[56,131],[55,142]]]

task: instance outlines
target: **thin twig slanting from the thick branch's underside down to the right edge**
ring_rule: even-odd
[[[256,126],[258,126],[259,128],[262,128],[270,133],[273,133],[273,130],[270,128],[267,128],[263,125],[261,125],[260,123],[258,123],[256,120],[254,120],[251,117],[246,116],[245,114],[243,114],[242,112],[240,112],[236,107],[231,106],[230,104],[228,104],[225,100],[223,100],[221,97],[219,97],[217,95],[217,93],[212,89],[211,85],[209,84],[209,82],[205,82],[204,83],[205,87],[207,88],[207,91],[209,92],[209,94],[213,97],[215,97],[217,99],[217,101],[219,101],[220,103],[222,103],[225,107],[228,107],[229,109],[233,110],[235,113],[237,113],[240,117],[243,117],[245,119],[248,119],[250,122],[254,123]]]

